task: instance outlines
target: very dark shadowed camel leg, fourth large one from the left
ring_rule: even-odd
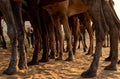
[[[41,9],[40,10],[40,23],[41,23],[41,35],[42,35],[42,45],[43,45],[43,54],[42,54],[42,58],[41,60],[39,60],[39,62],[48,62],[49,61],[49,57],[48,57],[48,53],[49,53],[49,35],[48,35],[48,26],[45,24],[45,19],[44,17],[49,18],[49,14],[46,10]]]

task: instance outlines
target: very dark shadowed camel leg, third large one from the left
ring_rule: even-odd
[[[33,26],[34,34],[35,34],[35,48],[32,56],[32,60],[28,62],[28,65],[37,65],[38,64],[38,53],[40,49],[41,43],[41,24],[39,18],[39,9],[34,1],[29,2],[30,4],[27,7],[28,16],[30,19],[30,23]]]

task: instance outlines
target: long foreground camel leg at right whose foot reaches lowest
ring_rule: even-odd
[[[94,15],[94,14],[92,14],[92,15]],[[103,39],[104,39],[104,36],[103,36],[104,32],[103,32],[103,28],[101,28],[102,27],[101,17],[99,16],[99,17],[96,18],[96,16],[95,15],[92,16],[93,23],[94,23],[94,26],[95,26],[95,36],[96,36],[95,54],[94,54],[94,58],[93,58],[93,61],[90,65],[89,69],[81,74],[81,76],[84,77],[84,78],[90,78],[90,77],[95,77],[96,76],[99,60],[100,60],[100,57],[101,57],[101,54],[102,54],[102,42],[103,42]]]

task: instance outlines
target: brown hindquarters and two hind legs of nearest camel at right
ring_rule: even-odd
[[[88,12],[93,21],[96,36],[96,48],[93,61],[89,69],[81,74],[82,77],[90,78],[96,76],[102,53],[102,42],[108,30],[110,31],[110,53],[112,57],[111,63],[105,67],[105,70],[117,70],[119,20],[116,17],[114,9],[111,7],[109,2],[111,0],[84,1],[89,5]]]

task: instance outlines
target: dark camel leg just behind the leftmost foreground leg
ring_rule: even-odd
[[[17,40],[18,40],[18,52],[19,52],[19,63],[18,67],[19,69],[27,69],[27,59],[26,59],[26,52],[25,52],[25,46],[24,46],[24,27],[23,27],[23,21],[22,21],[22,4],[13,2],[14,5],[12,5],[15,23],[16,23],[16,29],[17,29]]]

